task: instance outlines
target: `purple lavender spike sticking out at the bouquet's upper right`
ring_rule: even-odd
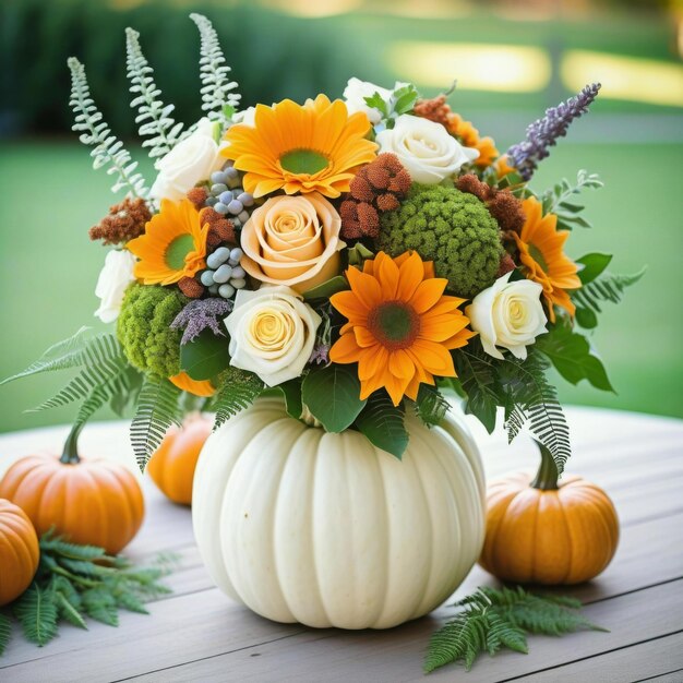
[[[547,109],[542,119],[527,128],[526,140],[507,151],[510,165],[517,169],[524,180],[530,180],[538,163],[550,154],[548,147],[555,145],[558,137],[566,135],[570,123],[588,111],[600,87],[600,83],[587,85],[578,95]]]

